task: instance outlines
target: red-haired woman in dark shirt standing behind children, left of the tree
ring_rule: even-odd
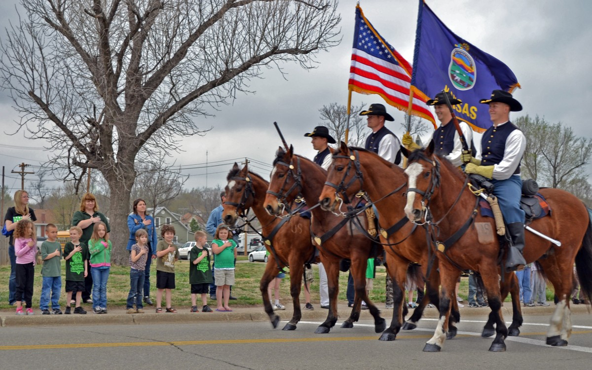
[[[95,196],[92,193],[86,193],[82,195],[80,211],[76,211],[72,216],[72,225],[82,229],[82,236],[80,238],[82,243],[85,243],[88,246],[92,231],[94,230],[95,224],[98,222],[105,223],[105,226],[107,226],[107,233],[111,232],[107,217],[99,212],[99,206],[96,204]],[[85,291],[82,292],[82,301],[84,303],[92,303],[92,274],[86,275],[84,285]]]

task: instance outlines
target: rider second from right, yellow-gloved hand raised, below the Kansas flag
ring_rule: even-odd
[[[434,106],[436,117],[440,121],[440,127],[434,131],[432,136],[435,144],[434,153],[446,157],[453,165],[458,167],[462,165],[462,143],[458,131],[456,131],[456,127],[452,122],[452,113],[448,105],[446,105],[444,94],[448,95],[448,101],[451,105],[462,104],[462,101],[453,98],[452,94],[448,91],[439,92],[435,98],[429,99],[426,102],[427,105]],[[459,121],[458,124],[465,137],[465,142],[470,149],[472,146],[473,130],[464,121]],[[419,149],[419,145],[413,141],[410,134],[404,134],[401,142],[409,149]]]

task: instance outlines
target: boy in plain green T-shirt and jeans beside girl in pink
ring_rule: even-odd
[[[41,287],[41,298],[39,308],[41,313],[49,315],[54,313],[61,315],[60,294],[62,293],[62,245],[57,242],[57,226],[47,224],[45,227],[47,240],[41,244],[41,259],[43,259],[43,287]],[[52,312],[49,311],[50,294],[52,297]]]

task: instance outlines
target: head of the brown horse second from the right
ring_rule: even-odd
[[[342,141],[339,150],[333,153],[333,163],[318,202],[323,210],[335,211],[344,201],[349,203],[352,195],[361,191],[362,185],[358,150],[350,150]]]

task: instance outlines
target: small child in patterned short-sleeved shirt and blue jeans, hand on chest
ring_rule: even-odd
[[[146,260],[149,258],[148,232],[144,229],[136,230],[136,244],[131,246],[130,252],[130,294],[127,295],[127,313],[143,314],[142,289],[146,276]],[[134,302],[136,309],[134,310]]]

